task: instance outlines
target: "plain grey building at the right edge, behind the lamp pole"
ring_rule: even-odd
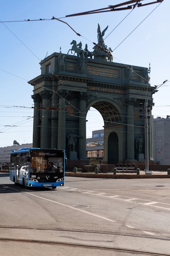
[[[170,118],[152,119],[153,157],[160,165],[170,165]]]

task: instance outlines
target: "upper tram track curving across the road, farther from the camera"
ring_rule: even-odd
[[[75,233],[92,233],[92,234],[107,234],[107,235],[119,235],[125,237],[136,237],[136,238],[149,238],[156,240],[164,240],[170,241],[170,238],[165,237],[153,237],[150,235],[136,235],[136,234],[126,234],[126,233],[118,233],[118,232],[103,232],[103,231],[90,231],[90,230],[78,230],[78,229],[61,229],[61,228],[34,228],[34,227],[19,227],[19,226],[0,226],[1,228],[7,229],[28,229],[28,230],[47,230],[47,231],[62,231],[62,232],[75,232]]]

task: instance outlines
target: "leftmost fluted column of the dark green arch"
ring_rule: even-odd
[[[31,96],[34,100],[34,121],[33,121],[33,148],[40,147],[40,106],[41,97],[39,93]]]

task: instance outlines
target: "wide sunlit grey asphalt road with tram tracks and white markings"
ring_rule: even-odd
[[[168,178],[66,177],[28,190],[0,173],[0,193],[3,256],[170,255]]]

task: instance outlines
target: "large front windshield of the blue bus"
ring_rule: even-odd
[[[63,157],[57,157],[56,153],[32,151],[30,156],[30,173],[63,172]]]

